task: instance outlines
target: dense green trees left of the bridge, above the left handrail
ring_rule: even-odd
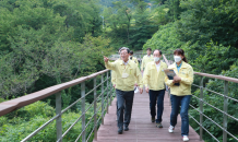
[[[1,97],[104,69],[102,54],[110,54],[110,40],[98,36],[99,7],[93,1],[3,0],[0,11]]]

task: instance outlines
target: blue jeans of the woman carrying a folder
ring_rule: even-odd
[[[181,135],[189,135],[189,103],[191,99],[191,95],[187,96],[176,96],[176,95],[170,95],[171,99],[171,115],[170,115],[170,125],[175,127],[177,125],[177,118],[180,109],[180,116],[182,120],[181,125]]]

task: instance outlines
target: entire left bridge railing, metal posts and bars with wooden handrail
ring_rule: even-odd
[[[105,76],[106,74],[106,76]],[[97,83],[97,78],[100,75],[100,83]],[[105,79],[106,78],[106,79]],[[91,90],[90,92],[85,92],[85,82],[88,80],[93,80],[94,82],[94,88]],[[105,83],[106,83],[106,88],[105,88]],[[81,97],[76,99],[74,103],[69,105],[66,109],[61,109],[61,92],[66,88],[75,86],[78,84],[81,84]],[[100,94],[97,94],[97,90],[102,90]],[[85,97],[88,96],[90,94],[94,95],[94,100],[93,103],[85,108]],[[80,94],[80,92],[79,92]],[[106,95],[105,95],[106,94]],[[79,133],[76,141],[81,140],[82,142],[86,142],[91,139],[92,134],[94,133],[94,139],[97,140],[97,127],[99,122],[104,125],[104,115],[105,111],[108,113],[108,107],[109,104],[111,104],[112,100],[112,95],[115,94],[115,90],[110,83],[110,76],[109,76],[109,70],[104,70],[100,72],[93,73],[88,76],[83,76],[70,82],[66,82],[59,85],[55,85],[45,90],[41,90],[36,93],[32,93],[15,99],[11,99],[8,102],[3,102],[0,104],[0,117],[4,116],[11,111],[14,111],[15,109],[19,109],[21,107],[27,106],[29,104],[33,104],[37,100],[40,100],[43,98],[46,98],[48,96],[55,95],[56,96],[56,116],[52,117],[50,120],[45,122],[43,126],[40,126],[38,129],[33,131],[31,134],[28,134],[25,139],[23,139],[21,142],[25,142],[27,140],[31,140],[35,134],[37,134],[40,130],[46,128],[49,123],[52,123],[53,120],[56,120],[56,130],[57,130],[57,142],[61,142],[62,139],[69,133],[69,131],[79,122],[81,121],[82,123],[82,132]],[[61,116],[69,110],[71,107],[73,107],[75,104],[81,103],[81,116],[73,122],[72,126],[68,128],[62,133],[62,121],[61,121]],[[102,105],[97,107],[97,103],[100,103]],[[94,108],[94,115],[91,117],[88,121],[85,120],[85,115],[90,110],[90,108]],[[97,117],[98,113],[99,118]],[[86,123],[87,122],[87,123]],[[86,128],[90,126],[90,123],[93,123],[93,129],[90,131],[90,134],[86,134]],[[86,135],[88,135],[86,138]]]

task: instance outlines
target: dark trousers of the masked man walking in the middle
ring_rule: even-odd
[[[150,108],[151,108],[151,116],[155,118],[156,116],[156,102],[157,102],[157,119],[156,122],[162,122],[162,115],[164,111],[164,96],[165,90],[160,91],[152,91],[150,90]]]

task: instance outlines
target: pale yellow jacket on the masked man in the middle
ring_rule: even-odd
[[[167,69],[167,64],[160,61],[159,70],[155,66],[155,62],[148,62],[144,74],[143,74],[143,84],[148,86],[152,91],[165,90],[165,72],[163,69]]]

